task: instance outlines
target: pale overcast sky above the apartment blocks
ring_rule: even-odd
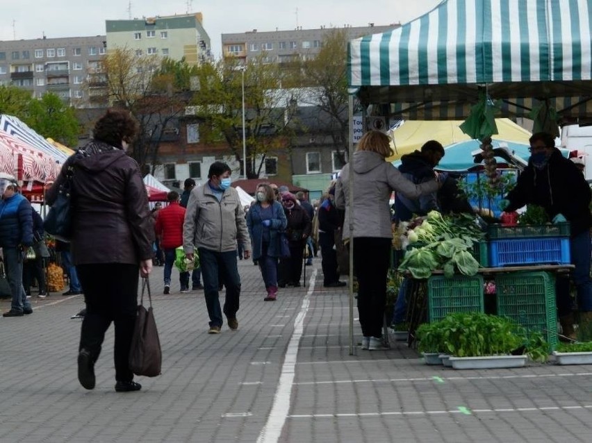
[[[441,0],[15,0],[3,1],[0,40],[104,35],[105,20],[202,12],[215,56],[222,33],[406,23]],[[131,5],[131,15],[129,7]]]

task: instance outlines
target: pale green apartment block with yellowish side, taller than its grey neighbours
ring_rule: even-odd
[[[126,47],[138,56],[154,55],[198,65],[211,58],[210,37],[201,12],[132,20],[106,20],[107,47]]]

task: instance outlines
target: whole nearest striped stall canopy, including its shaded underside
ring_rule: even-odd
[[[442,1],[350,41],[350,87],[363,105],[389,105],[377,115],[404,119],[464,119],[483,91],[501,101],[496,117],[592,119],[591,3]]]

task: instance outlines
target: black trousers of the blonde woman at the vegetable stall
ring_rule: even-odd
[[[358,278],[358,313],[364,337],[382,337],[390,238],[354,238],[354,271]]]

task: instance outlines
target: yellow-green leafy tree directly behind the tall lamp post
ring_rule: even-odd
[[[199,67],[199,92],[193,104],[202,122],[200,136],[206,142],[226,142],[242,165],[242,87],[245,90],[245,144],[247,178],[258,178],[265,157],[289,149],[290,121],[295,115],[296,91],[282,90],[285,74],[265,53],[239,65],[233,58]]]

